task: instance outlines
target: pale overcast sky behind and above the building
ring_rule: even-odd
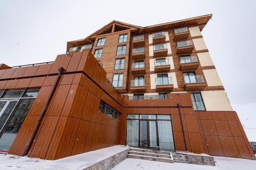
[[[213,14],[202,34],[249,140],[256,141],[256,1],[1,1],[0,63],[54,61],[112,20],[151,26]]]

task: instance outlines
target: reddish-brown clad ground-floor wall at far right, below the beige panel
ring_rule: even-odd
[[[236,112],[196,111],[210,155],[255,159]]]

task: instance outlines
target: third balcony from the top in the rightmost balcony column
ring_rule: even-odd
[[[197,56],[180,57],[180,70],[197,69],[198,66]]]

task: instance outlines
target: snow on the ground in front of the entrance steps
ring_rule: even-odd
[[[214,157],[217,161],[216,166],[209,165],[195,165],[188,163],[165,163],[165,162],[156,162],[148,161],[142,159],[133,159],[126,158],[118,165],[116,165],[112,170],[165,170],[165,169],[186,169],[186,170],[200,170],[200,169],[209,169],[209,170],[255,170],[256,169],[256,160],[248,159],[239,159],[239,158],[228,158],[228,157]]]

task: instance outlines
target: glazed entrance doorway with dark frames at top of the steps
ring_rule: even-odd
[[[170,115],[127,115],[127,144],[138,148],[174,151]]]

